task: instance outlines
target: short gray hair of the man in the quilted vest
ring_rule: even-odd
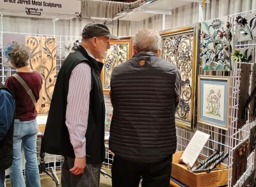
[[[137,52],[157,52],[161,49],[161,37],[152,29],[141,30],[135,35],[133,45]]]

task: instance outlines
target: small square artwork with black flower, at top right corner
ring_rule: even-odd
[[[236,41],[256,40],[256,14],[234,17]]]

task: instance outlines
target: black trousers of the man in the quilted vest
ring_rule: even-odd
[[[156,163],[136,163],[114,157],[112,172],[113,187],[169,187],[172,157]]]

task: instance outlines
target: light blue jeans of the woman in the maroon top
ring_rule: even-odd
[[[15,119],[13,131],[13,162],[10,168],[12,187],[38,187],[40,176],[36,158],[36,138],[38,124],[36,120],[19,121]],[[26,159],[26,185],[22,175],[22,148]]]

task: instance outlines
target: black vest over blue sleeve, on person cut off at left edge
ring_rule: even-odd
[[[12,94],[3,84],[0,84],[0,89],[4,89],[8,91],[8,93]],[[0,170],[6,170],[12,165],[13,160],[13,124],[14,124],[14,116],[12,124],[6,133],[6,136],[3,140],[0,140]]]

